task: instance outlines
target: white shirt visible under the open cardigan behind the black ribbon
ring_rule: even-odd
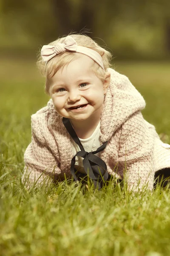
[[[85,149],[86,152],[92,152],[95,151],[97,148],[99,148],[101,146],[100,140],[99,140],[99,134],[100,134],[100,122],[97,125],[95,131],[93,132],[93,134],[91,135],[91,137],[87,138],[87,139],[80,139],[80,142],[82,143],[83,148]],[[72,140],[72,151],[74,153],[74,155],[81,151],[79,146],[77,145],[77,143],[74,142],[73,139]],[[99,155],[95,154],[96,156]],[[79,172],[85,173],[85,170],[83,168],[83,164],[82,164],[82,157],[76,157],[76,162],[75,162],[75,169],[79,170]]]

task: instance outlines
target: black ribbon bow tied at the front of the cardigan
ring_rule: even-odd
[[[68,133],[75,141],[75,143],[77,143],[77,145],[79,145],[79,148],[81,149],[81,151],[77,152],[77,154],[75,154],[75,156],[71,160],[71,174],[73,175],[74,180],[78,181],[74,169],[76,157],[83,157],[84,159],[82,163],[86,175],[88,175],[90,179],[94,180],[95,187],[101,188],[102,181],[108,179],[107,166],[106,163],[100,157],[97,157],[94,154],[97,154],[100,151],[104,150],[108,141],[103,143],[99,148],[96,149],[96,151],[86,152],[79,138],[77,137],[77,134],[74,131],[74,128],[72,127],[70,120],[68,118],[63,117],[62,122],[65,125],[65,128],[67,129]]]

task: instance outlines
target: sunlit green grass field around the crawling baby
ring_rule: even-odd
[[[0,255],[168,256],[170,193],[131,195],[119,185],[22,186],[30,116],[46,104],[34,61],[0,60]],[[170,63],[116,63],[147,102],[142,112],[170,143]]]

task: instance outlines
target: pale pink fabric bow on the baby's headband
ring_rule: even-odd
[[[63,44],[58,43],[55,46],[44,45],[41,49],[41,56],[43,61],[47,62],[51,58],[53,58],[55,55],[65,51],[71,51],[71,52],[77,51],[77,43],[74,40],[74,38],[72,38],[69,35],[65,38],[65,41]]]

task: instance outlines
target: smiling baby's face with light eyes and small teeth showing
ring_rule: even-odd
[[[79,55],[50,79],[50,96],[57,113],[74,122],[101,114],[104,93],[109,85],[95,75],[91,68],[93,60]]]

